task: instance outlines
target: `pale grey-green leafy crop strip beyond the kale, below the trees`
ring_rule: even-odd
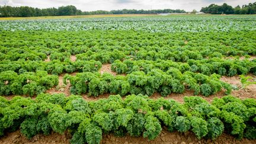
[[[136,30],[148,32],[206,32],[255,30],[255,15],[84,15],[2,20],[0,30]]]

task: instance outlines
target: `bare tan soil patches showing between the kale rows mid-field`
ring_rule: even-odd
[[[104,64],[102,66],[102,68],[100,69],[100,73],[111,73],[112,75],[118,75],[116,72],[111,71],[111,65],[110,64]],[[63,76],[65,75],[65,73],[59,75],[59,85],[58,85],[58,89],[57,87],[52,88],[52,89],[48,89],[47,93],[49,94],[59,94],[59,93],[64,93],[66,96],[71,95],[69,92],[69,89],[71,87],[71,85],[64,85],[65,87],[63,87]],[[76,72],[74,73],[69,73],[69,75],[76,75]],[[124,75],[124,74],[123,74]],[[249,75],[252,78],[256,79],[255,75]],[[227,82],[228,84],[234,85],[238,88],[242,87],[240,78],[238,75],[236,76],[232,76],[232,77],[228,77],[228,76],[222,76],[220,78],[221,81],[223,82]],[[87,101],[95,101],[95,100],[99,100],[101,98],[108,98],[108,96],[111,94],[103,94],[103,95],[98,95],[97,97],[94,96],[89,96],[88,94],[82,94],[82,97],[84,98],[84,100]],[[211,102],[213,100],[213,98],[222,98],[224,97],[225,91],[222,90],[220,92],[217,92],[216,94],[210,95],[209,97],[204,97],[203,95],[197,95],[200,97],[203,97],[205,100]],[[238,90],[232,90],[231,95],[241,98],[241,99],[245,99],[245,98],[256,98],[256,85],[249,85],[246,89],[238,89]],[[176,94],[176,93],[172,93],[170,95],[167,95],[167,97],[164,97],[166,99],[172,98],[180,103],[183,103],[183,98],[185,96],[194,96],[194,92],[190,91],[189,89],[185,89],[185,92],[183,92],[183,94]],[[159,93],[155,93],[153,94],[150,98],[161,98],[162,96]]]

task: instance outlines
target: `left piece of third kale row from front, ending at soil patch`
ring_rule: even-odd
[[[34,60],[2,60],[0,62],[0,72],[14,71],[19,74],[24,72],[46,71],[53,75],[59,75],[64,72],[98,72],[101,68],[101,62],[95,60],[77,60],[72,62],[70,59],[53,60],[50,62],[34,61]]]

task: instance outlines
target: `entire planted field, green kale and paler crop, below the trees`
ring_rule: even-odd
[[[256,15],[0,31],[0,143],[256,143]]]

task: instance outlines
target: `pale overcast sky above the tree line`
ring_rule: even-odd
[[[113,9],[184,9],[199,11],[201,7],[210,4],[223,4],[235,7],[248,4],[255,0],[0,0],[0,5],[30,6],[37,8],[60,7],[62,5],[75,5],[82,11],[113,10]]]

